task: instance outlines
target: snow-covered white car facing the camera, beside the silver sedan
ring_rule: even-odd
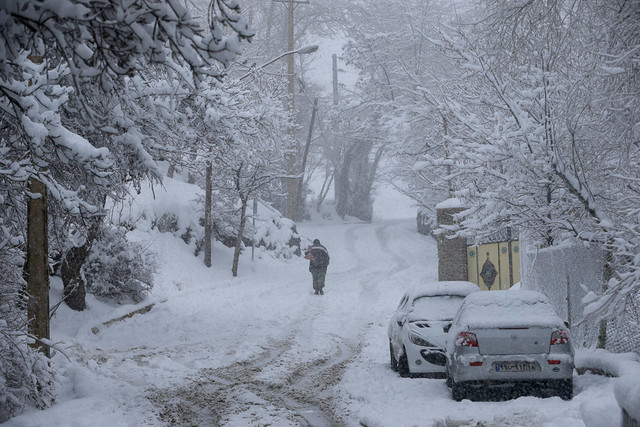
[[[409,289],[389,322],[391,369],[400,376],[445,377],[447,330],[471,282],[430,282]]]

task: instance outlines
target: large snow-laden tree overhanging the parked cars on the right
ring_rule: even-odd
[[[462,90],[436,94],[453,114],[457,195],[472,206],[463,226],[605,248],[608,290],[587,315],[611,318],[637,304],[629,295],[640,277],[640,3],[481,5],[471,24],[431,39],[466,71]]]

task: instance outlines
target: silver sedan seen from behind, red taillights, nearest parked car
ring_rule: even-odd
[[[573,398],[573,346],[566,324],[534,291],[469,295],[447,335],[447,383],[460,401],[500,390]]]

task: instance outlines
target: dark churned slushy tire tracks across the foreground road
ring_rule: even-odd
[[[323,314],[316,306],[312,318]],[[349,361],[359,352],[363,334],[355,340],[333,335],[336,344],[311,360],[289,358],[296,353],[300,325],[285,340],[274,342],[259,355],[220,368],[205,368],[183,385],[150,389],[148,399],[159,409],[157,417],[168,425],[224,425],[238,417],[267,411],[276,423],[341,426],[331,389],[342,378]]]

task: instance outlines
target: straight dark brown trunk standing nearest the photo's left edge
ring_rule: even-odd
[[[27,315],[28,332],[36,338],[33,347],[47,357],[48,345],[39,341],[51,337],[49,328],[49,241],[47,230],[47,188],[35,178],[29,180],[33,197],[27,200]],[[39,196],[39,197],[38,197]]]

